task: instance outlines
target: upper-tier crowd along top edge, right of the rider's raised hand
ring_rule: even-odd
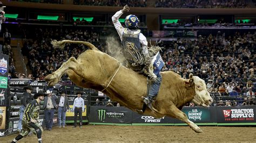
[[[246,0],[157,0],[156,8],[250,8],[255,3]]]

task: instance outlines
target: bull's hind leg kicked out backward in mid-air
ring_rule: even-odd
[[[76,70],[78,66],[78,62],[75,58],[71,57],[68,61],[64,62],[62,66],[54,71],[52,74],[49,74],[45,77],[46,81],[48,82],[48,85],[53,86],[56,83],[60,81],[60,77],[65,73],[66,70]]]

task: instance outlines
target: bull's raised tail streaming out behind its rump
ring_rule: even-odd
[[[51,44],[53,47],[59,47],[59,48],[64,48],[66,43],[83,44],[83,45],[88,46],[92,50],[99,51],[99,49],[96,48],[93,44],[91,44],[90,42],[86,42],[86,41],[72,41],[72,40],[62,40],[62,41],[52,40],[51,41]]]

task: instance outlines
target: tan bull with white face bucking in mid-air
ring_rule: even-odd
[[[146,96],[147,80],[131,69],[128,69],[103,52],[100,52],[89,42],[63,40],[53,41],[53,46],[63,47],[66,42],[84,44],[90,49],[82,53],[77,60],[71,57],[52,74],[45,77],[49,85],[56,84],[64,73],[79,87],[102,91],[113,101],[137,111],[143,106],[142,96]],[[169,116],[188,124],[195,132],[203,132],[196,124],[188,120],[181,108],[188,102],[209,106],[212,98],[206,90],[204,80],[190,75],[190,79],[181,78],[172,71],[161,72],[163,81],[156,101],[153,103],[156,111],[145,110],[145,115],[161,118]]]

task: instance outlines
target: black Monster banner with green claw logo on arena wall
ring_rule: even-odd
[[[124,107],[91,106],[90,124],[131,124],[132,112]]]

